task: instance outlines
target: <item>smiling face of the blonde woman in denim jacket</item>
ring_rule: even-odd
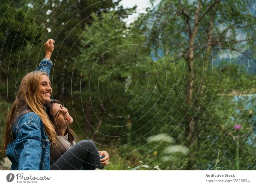
[[[41,96],[41,98],[44,100],[44,102],[51,101],[52,88],[51,88],[51,82],[48,76],[42,75],[38,93]]]

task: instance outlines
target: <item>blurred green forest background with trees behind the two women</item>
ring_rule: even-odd
[[[0,1],[0,144],[21,79],[50,80],[107,170],[255,170],[255,1]],[[6,157],[0,153],[0,160]]]

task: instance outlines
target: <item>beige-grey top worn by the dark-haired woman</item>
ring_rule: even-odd
[[[75,141],[73,143],[69,143],[68,141],[68,134],[65,133],[65,136],[59,136],[56,140],[57,146],[50,147],[50,156],[51,156],[51,165],[57,161],[62,154],[64,154],[68,149],[70,149],[72,146],[76,144]]]

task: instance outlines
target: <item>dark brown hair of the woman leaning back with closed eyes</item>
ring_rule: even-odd
[[[58,104],[61,105],[61,101],[60,100],[51,100],[50,102],[45,103],[46,113],[49,115],[49,118],[52,121],[52,123],[54,123],[54,121],[55,121],[54,114],[52,114],[53,103],[58,103]],[[56,133],[58,135],[60,135],[58,126],[54,125],[54,128],[55,128]],[[68,134],[69,143],[72,144],[72,142],[75,140],[74,131],[72,129],[70,129],[69,126],[68,126],[67,130],[66,130],[66,133]]]

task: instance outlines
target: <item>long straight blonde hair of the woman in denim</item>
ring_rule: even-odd
[[[2,149],[2,151],[6,151],[7,145],[12,140],[12,125],[14,124],[14,122],[18,122],[15,121],[16,117],[19,119],[20,114],[31,111],[39,115],[42,119],[44,123],[45,133],[49,137],[50,142],[56,142],[57,134],[54,127],[52,126],[48,115],[45,112],[44,99],[41,96],[38,96],[38,90],[41,84],[41,77],[43,75],[48,76],[47,73],[41,71],[34,71],[28,73],[21,80],[18,95],[12,104],[12,108],[5,122],[4,149]]]

